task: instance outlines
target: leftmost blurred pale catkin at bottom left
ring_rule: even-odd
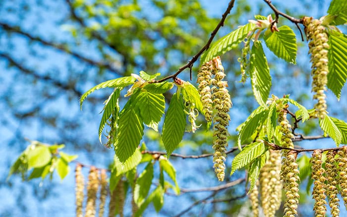
[[[82,174],[82,165],[79,163],[77,163],[75,168],[75,182],[76,217],[83,217],[84,177]]]

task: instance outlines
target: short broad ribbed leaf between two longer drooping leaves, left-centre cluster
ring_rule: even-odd
[[[141,119],[146,125],[158,131],[158,124],[165,110],[165,98],[163,94],[140,91],[134,99],[134,109],[140,111]]]

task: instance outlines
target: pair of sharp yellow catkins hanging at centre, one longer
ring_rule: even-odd
[[[224,81],[224,67],[219,56],[206,62],[198,73],[199,91],[206,120],[213,121],[213,167],[219,181],[225,177],[226,150],[228,147],[229,110],[232,106],[228,82]],[[211,86],[211,88],[210,88]]]

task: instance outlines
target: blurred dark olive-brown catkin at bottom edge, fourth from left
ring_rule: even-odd
[[[123,207],[125,202],[124,194],[124,181],[119,180],[116,188],[111,193],[110,203],[109,203],[109,217],[115,217],[119,214],[120,217],[124,217]]]

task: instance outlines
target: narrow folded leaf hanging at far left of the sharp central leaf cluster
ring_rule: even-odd
[[[101,135],[103,134],[103,130],[107,120],[110,118],[112,113],[119,113],[118,106],[118,98],[119,98],[120,90],[116,88],[114,92],[110,95],[109,99],[105,102],[104,113],[100,121],[99,125],[99,141],[101,143]]]

